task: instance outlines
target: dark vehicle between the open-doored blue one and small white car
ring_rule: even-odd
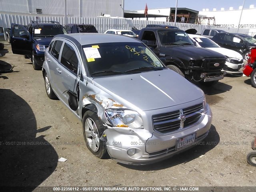
[[[92,24],[66,24],[64,28],[68,33],[98,33]]]

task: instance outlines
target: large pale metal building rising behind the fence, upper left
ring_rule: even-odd
[[[0,0],[0,12],[36,14],[42,9],[46,15],[64,15],[65,0]],[[97,17],[101,14],[123,16],[120,4],[123,0],[66,0],[67,15],[75,17]]]

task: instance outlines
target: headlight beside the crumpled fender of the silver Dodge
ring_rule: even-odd
[[[143,122],[138,112],[129,109],[106,109],[109,122],[115,127],[143,128]]]

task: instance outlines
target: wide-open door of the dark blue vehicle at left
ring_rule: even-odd
[[[10,30],[12,52],[19,55],[31,55],[32,40],[28,30],[19,24],[12,24]]]

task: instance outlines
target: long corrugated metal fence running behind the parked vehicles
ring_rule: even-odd
[[[10,28],[11,23],[27,25],[31,20],[54,20],[60,22],[60,24],[65,23],[64,16],[41,16],[41,15],[18,15],[18,14],[0,14],[0,27]],[[147,24],[166,24],[174,26],[174,22],[160,22],[160,21],[145,21],[145,20],[128,20],[121,18],[104,18],[104,17],[68,17],[66,23],[77,23],[77,24],[94,24],[98,32],[104,33],[108,29],[132,29],[135,26],[138,29],[146,27]],[[189,24],[189,23],[177,23],[177,27],[182,30],[187,30],[194,28],[201,33],[204,28],[209,28],[206,25],[199,24]],[[224,27],[214,27],[226,32],[236,32],[237,28],[224,28]],[[248,28],[239,28],[239,33],[248,34]]]

